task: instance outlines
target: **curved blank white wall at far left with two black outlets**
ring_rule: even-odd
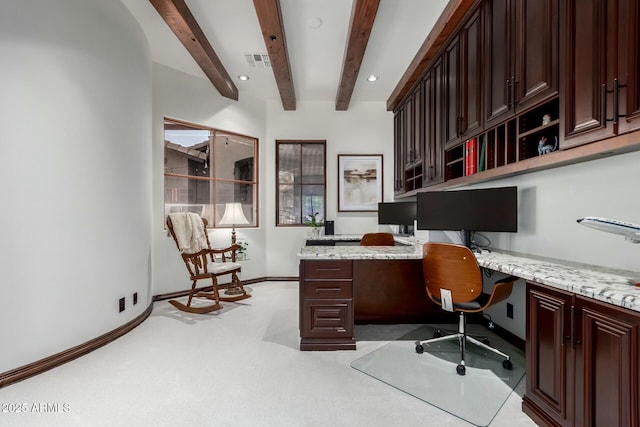
[[[151,61],[102,0],[1,2],[0,57],[4,372],[150,304]]]

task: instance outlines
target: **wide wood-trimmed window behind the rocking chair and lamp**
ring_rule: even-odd
[[[178,120],[164,122],[164,213],[197,212],[220,225],[226,203],[241,203],[258,226],[258,139]]]

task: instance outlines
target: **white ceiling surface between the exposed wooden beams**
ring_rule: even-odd
[[[206,78],[149,0],[122,0],[140,23],[154,62]],[[267,53],[252,0],[186,0],[240,99],[280,100],[270,68],[251,67],[245,53]],[[447,0],[381,0],[351,102],[386,102]],[[352,0],[280,0],[297,101],[334,102]],[[320,19],[322,24],[314,28]],[[240,81],[238,75],[250,77]],[[367,81],[375,74],[378,80]]]

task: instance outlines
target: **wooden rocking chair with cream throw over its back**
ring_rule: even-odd
[[[192,215],[192,217],[186,217],[188,215]],[[195,215],[195,217],[193,215]],[[181,248],[181,243],[184,244],[184,242],[182,241],[183,239],[179,237],[180,233],[176,233],[176,228],[174,222],[172,221],[172,217],[174,218],[174,221],[176,223],[178,221],[187,223],[190,222],[193,227],[202,227],[202,229],[200,230],[193,231],[199,233],[200,236],[204,236],[204,239],[206,239],[206,247],[194,253],[187,253],[187,251],[184,251],[184,248]],[[171,305],[173,305],[178,310],[186,311],[189,313],[203,314],[222,308],[220,301],[233,302],[251,297],[251,295],[249,295],[242,286],[242,281],[240,281],[240,279],[238,278],[238,273],[240,272],[241,266],[235,261],[236,250],[240,248],[239,245],[234,243],[228,248],[212,249],[211,243],[209,242],[209,236],[206,232],[207,220],[201,218],[198,214],[169,214],[169,216],[167,216],[167,229],[169,230],[171,237],[173,237],[173,240],[176,242],[178,250],[181,251],[180,255],[182,256],[182,260],[187,267],[189,277],[192,281],[191,291],[189,292],[189,299],[187,300],[187,304],[185,305],[177,300],[170,300],[169,303]],[[202,246],[204,246],[204,241],[202,242]],[[197,246],[195,247],[197,248]],[[218,276],[223,276],[226,274],[231,275],[231,284],[227,286],[227,292],[225,293],[225,295],[234,294],[233,296],[220,296]],[[198,280],[206,279],[211,279],[211,290],[197,290],[196,283],[198,282]],[[213,304],[193,307],[191,303],[194,297],[206,298],[213,301]]]

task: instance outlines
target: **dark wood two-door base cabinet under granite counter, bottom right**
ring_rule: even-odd
[[[527,283],[523,411],[539,425],[638,426],[640,313]]]

